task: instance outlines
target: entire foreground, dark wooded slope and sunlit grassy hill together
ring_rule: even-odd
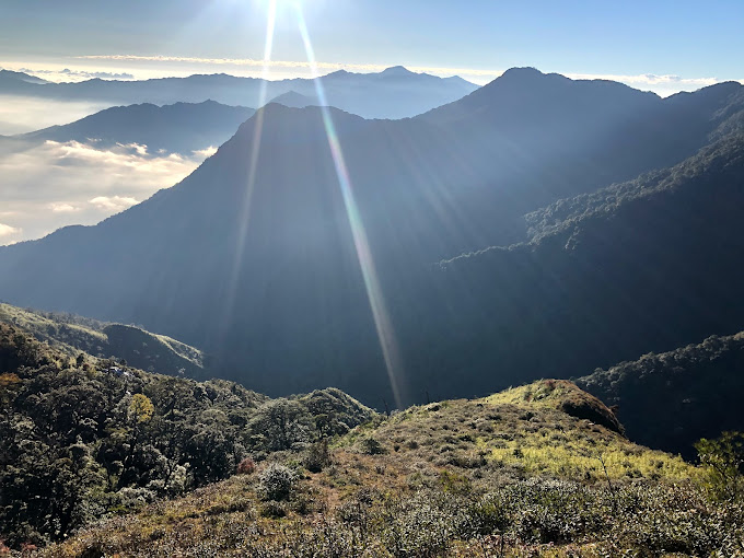
[[[694,466],[567,381],[385,417],[0,325],[0,554],[744,556],[744,437],[701,441]]]

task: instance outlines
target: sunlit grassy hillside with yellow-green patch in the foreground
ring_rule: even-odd
[[[548,381],[376,417],[327,452],[270,455],[255,472],[102,521],[39,554],[606,557],[744,548],[741,505],[711,503],[697,487],[699,470],[681,458],[560,410],[578,397],[570,384]]]

